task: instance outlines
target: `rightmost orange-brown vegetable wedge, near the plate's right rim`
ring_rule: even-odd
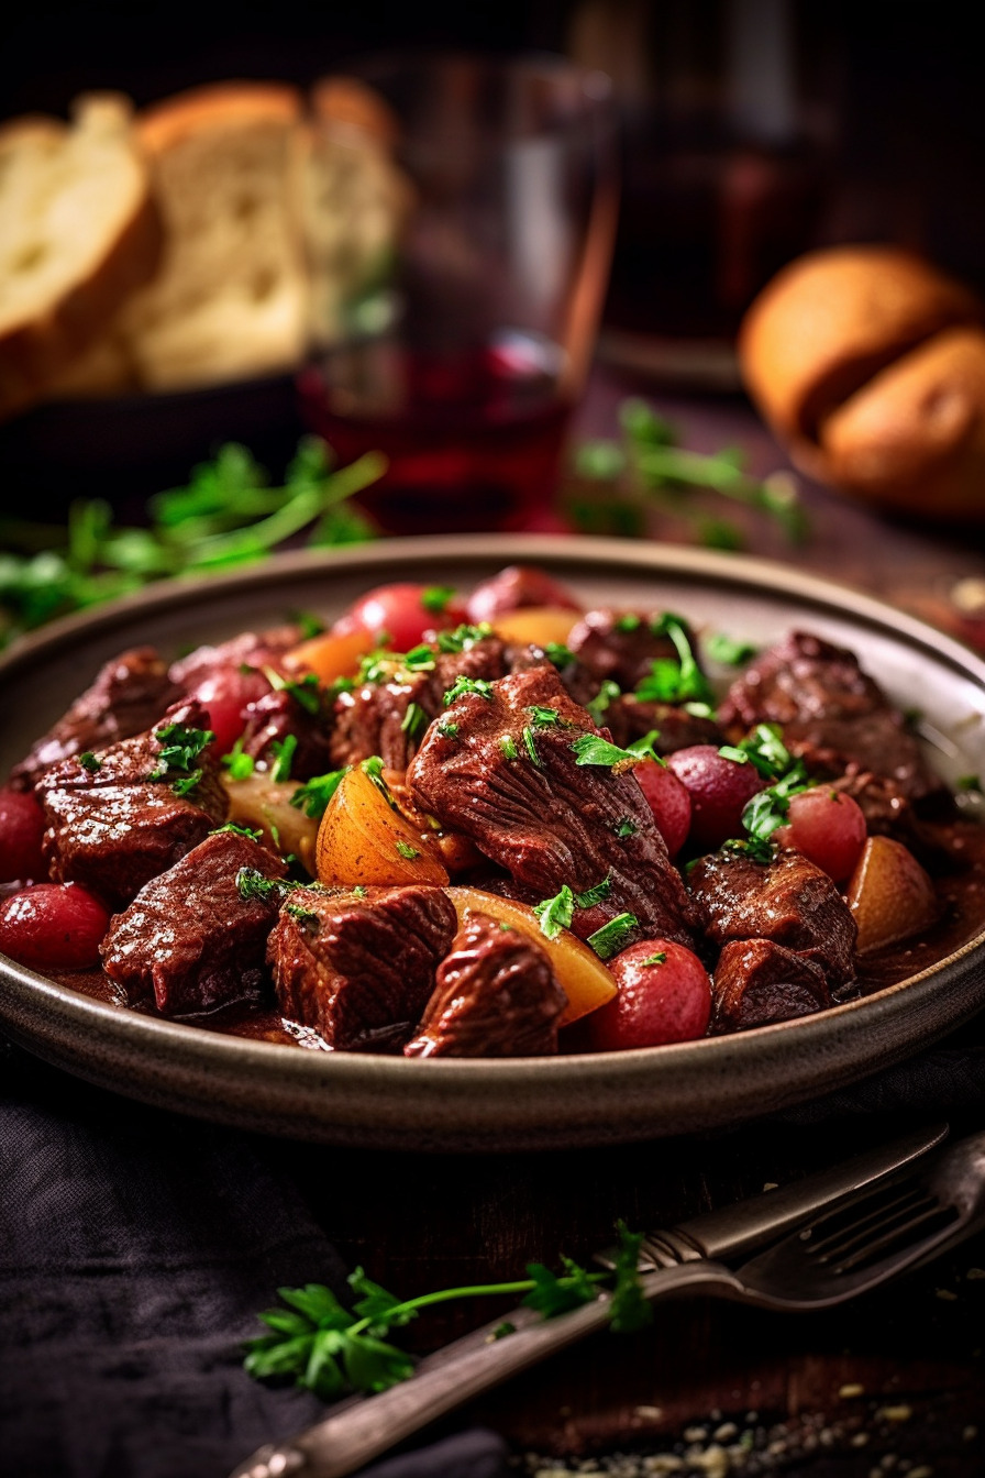
[[[920,934],[941,912],[930,878],[902,842],[870,837],[848,884],[848,906],[858,925],[857,950]]]

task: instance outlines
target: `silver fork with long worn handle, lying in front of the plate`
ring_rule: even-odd
[[[985,1134],[963,1140],[930,1165],[880,1179],[876,1188],[824,1212],[737,1268],[681,1261],[672,1240],[644,1244],[644,1298],[684,1293],[808,1311],[831,1308],[930,1261],[985,1225]],[[607,1256],[600,1256],[607,1262]],[[515,1333],[495,1339],[502,1320],[421,1361],[415,1375],[380,1395],[354,1398],[281,1447],[263,1447],[230,1478],[346,1478],[388,1447],[465,1401],[576,1344],[608,1323],[608,1293],[570,1314],[508,1315]]]

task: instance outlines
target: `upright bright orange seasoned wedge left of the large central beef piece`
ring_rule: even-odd
[[[434,844],[393,808],[384,791],[356,767],[343,776],[318,829],[319,882],[440,888],[447,871]]]

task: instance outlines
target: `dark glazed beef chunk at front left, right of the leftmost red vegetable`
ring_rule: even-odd
[[[242,897],[242,868],[286,875],[250,837],[216,832],[115,915],[100,955],[131,1005],[154,1001],[161,1015],[192,1015],[260,995],[281,899]]]

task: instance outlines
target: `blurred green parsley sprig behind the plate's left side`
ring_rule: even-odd
[[[380,452],[337,467],[329,446],[307,436],[284,485],[272,486],[251,452],[229,442],[188,486],[149,500],[145,528],[117,525],[102,498],[74,503],[64,528],[0,519],[0,646],[151,581],[255,563],[304,529],[310,547],[369,539],[372,526],[347,500],[384,471]]]

